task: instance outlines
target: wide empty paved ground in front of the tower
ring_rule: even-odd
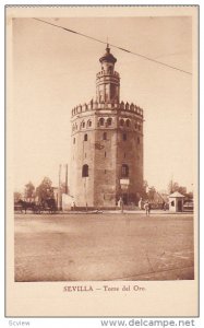
[[[194,279],[193,214],[15,214],[15,281]]]

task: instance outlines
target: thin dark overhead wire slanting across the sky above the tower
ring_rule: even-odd
[[[80,35],[80,36],[89,38],[89,39],[95,40],[95,42],[98,42],[98,43],[100,43],[100,44],[107,44],[106,42],[104,42],[104,40],[101,40],[101,39],[98,39],[98,38],[96,38],[96,37],[89,36],[89,35],[87,35],[87,34],[84,34],[84,33],[81,33],[81,32],[77,32],[77,31],[68,28],[68,27],[60,26],[60,25],[57,25],[57,24],[53,24],[53,23],[44,21],[44,20],[41,20],[41,19],[36,19],[36,17],[33,17],[33,19],[36,20],[36,21],[43,22],[43,23],[45,23],[45,24],[55,26],[55,27],[57,27],[57,28],[61,28],[61,30],[64,30],[64,31],[67,31],[67,32],[70,32],[70,33],[77,34],[77,35]],[[161,65],[161,66],[164,66],[164,67],[167,67],[167,68],[177,70],[177,71],[179,71],[179,72],[181,72],[181,73],[185,73],[185,74],[192,75],[192,73],[189,72],[189,71],[182,70],[182,69],[180,69],[180,68],[178,68],[178,67],[175,67],[175,66],[165,63],[165,62],[159,61],[159,60],[156,60],[156,59],[154,59],[154,58],[144,56],[144,55],[142,55],[142,54],[134,52],[134,51],[132,51],[132,50],[129,50],[129,49],[125,49],[125,48],[122,48],[122,47],[112,45],[112,44],[110,44],[110,43],[109,43],[109,46],[111,46],[111,47],[113,47],[113,48],[117,48],[117,49],[119,49],[119,50],[121,50],[121,51],[125,51],[125,52],[128,52],[128,54],[131,54],[131,55],[141,57],[141,58],[143,58],[143,59],[145,59],[145,60],[153,61],[153,62],[158,63],[158,65]]]

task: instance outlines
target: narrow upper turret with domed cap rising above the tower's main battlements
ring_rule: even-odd
[[[117,59],[110,54],[107,45],[106,54],[99,59],[101,71],[96,75],[96,99],[98,103],[120,102],[120,75],[115,71]]]

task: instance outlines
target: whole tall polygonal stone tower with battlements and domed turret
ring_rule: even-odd
[[[143,188],[143,109],[120,102],[117,59],[99,59],[96,98],[72,109],[71,195],[76,207],[137,203]]]

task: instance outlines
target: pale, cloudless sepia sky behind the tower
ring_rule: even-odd
[[[189,16],[44,20],[192,72]],[[106,46],[33,19],[14,19],[12,37],[14,187],[44,176],[57,185],[59,164],[69,164],[71,110],[95,96]],[[110,48],[120,99],[144,110],[144,179],[158,190],[171,178],[192,190],[192,75]]]

